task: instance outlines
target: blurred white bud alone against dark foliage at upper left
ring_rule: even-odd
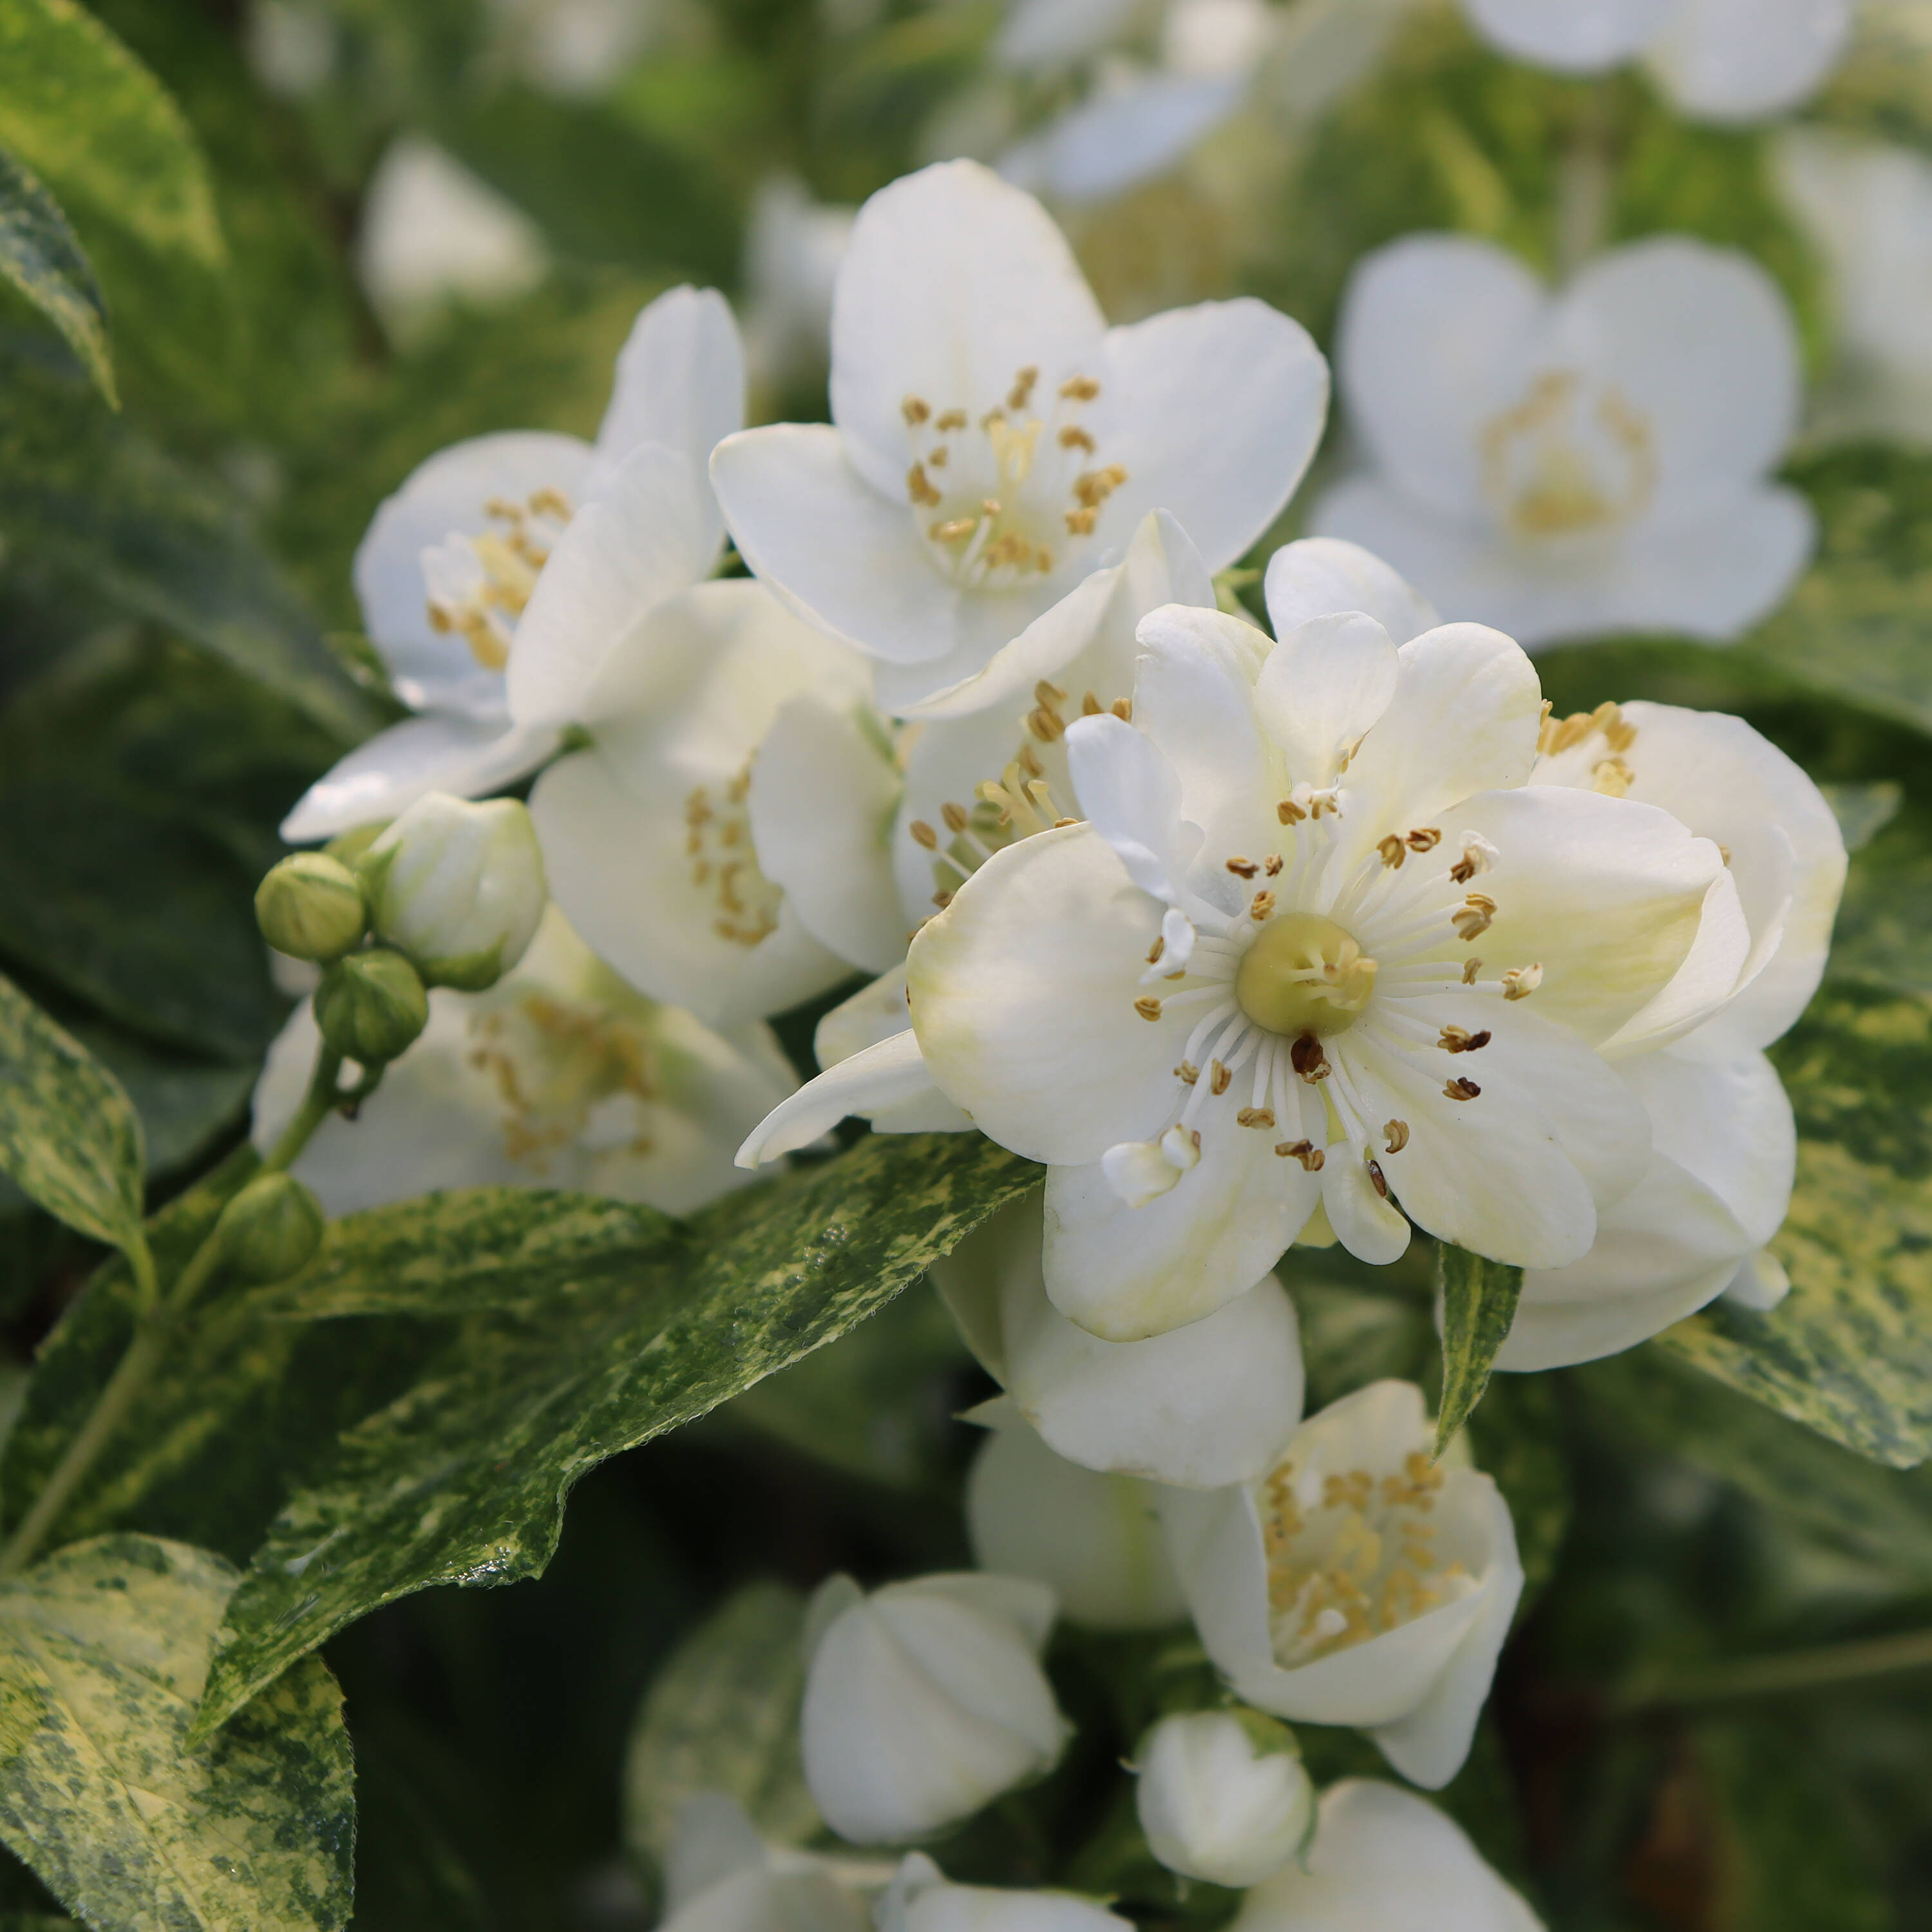
[[[355,267],[383,327],[419,336],[450,303],[508,301],[549,269],[543,232],[452,155],[398,135],[363,195]]]

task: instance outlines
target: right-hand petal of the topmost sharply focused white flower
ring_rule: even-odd
[[[1308,330],[1265,301],[1169,309],[1107,334],[1111,460],[1126,483],[1115,527],[1169,510],[1225,570],[1300,483],[1327,417],[1327,363]]]

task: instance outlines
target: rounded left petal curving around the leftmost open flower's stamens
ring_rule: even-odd
[[[471,437],[417,464],[383,500],[355,547],[355,597],[369,641],[406,705],[502,715],[502,672],[479,665],[460,636],[429,622],[423,551],[450,531],[489,529],[493,498],[527,502],[554,489],[576,502],[589,464],[591,446],[576,437],[535,429]]]

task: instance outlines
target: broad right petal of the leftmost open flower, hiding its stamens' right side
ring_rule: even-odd
[[[570,520],[537,578],[510,651],[520,724],[591,723],[607,667],[659,605],[711,568],[717,537],[701,469],[659,442],[630,450]]]

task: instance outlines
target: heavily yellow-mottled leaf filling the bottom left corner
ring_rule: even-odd
[[[0,1586],[0,1837],[104,1932],[348,1918],[354,1768],[323,1662],[187,1741],[234,1584],[203,1549],[102,1536]]]

